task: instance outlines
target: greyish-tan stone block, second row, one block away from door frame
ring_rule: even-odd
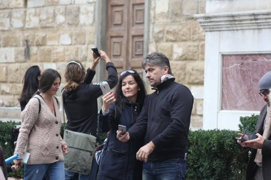
[[[67,6],[67,25],[77,26],[79,24],[79,6]]]

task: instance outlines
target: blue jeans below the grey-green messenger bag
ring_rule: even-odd
[[[81,174],[65,170],[65,180],[94,180],[96,176],[97,166],[98,164],[96,162],[96,159],[93,159],[89,174]]]

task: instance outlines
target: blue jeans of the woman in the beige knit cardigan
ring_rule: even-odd
[[[24,180],[41,180],[45,175],[47,180],[62,180],[65,178],[64,161],[51,164],[25,164]]]

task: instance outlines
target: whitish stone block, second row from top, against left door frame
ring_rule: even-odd
[[[92,25],[94,22],[94,4],[80,6],[80,25]]]

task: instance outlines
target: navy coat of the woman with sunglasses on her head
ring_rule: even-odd
[[[105,155],[100,162],[97,180],[140,180],[142,179],[142,162],[136,159],[136,153],[143,145],[143,139],[121,142],[117,139],[118,125],[126,126],[129,129],[136,121],[140,113],[138,104],[127,101],[123,108],[119,122],[114,120],[114,104],[109,107],[109,113],[105,116],[102,110],[99,113],[99,131],[108,132],[109,140]]]

